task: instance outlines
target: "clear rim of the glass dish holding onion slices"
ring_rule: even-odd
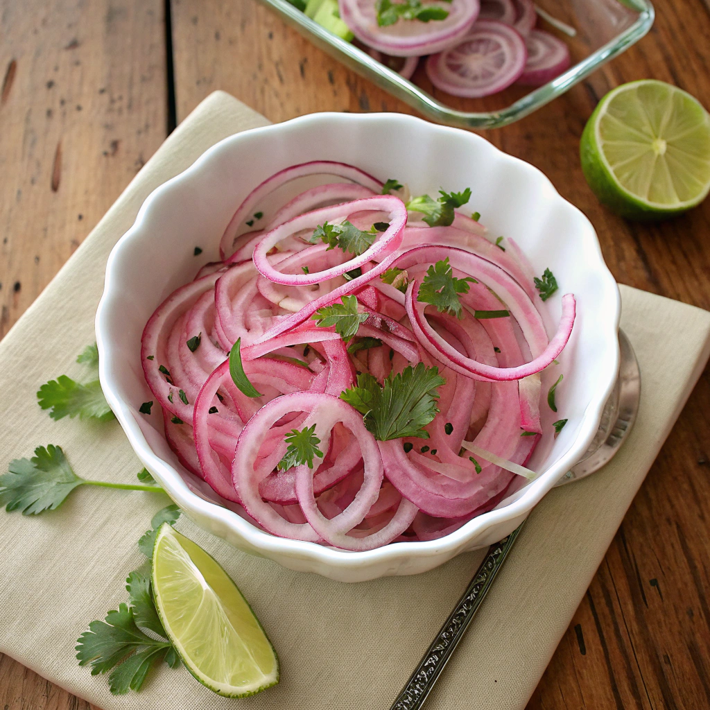
[[[445,106],[416,84],[401,77],[397,72],[381,64],[354,44],[346,42],[314,22],[305,13],[290,4],[288,0],[261,1],[278,12],[296,31],[312,40],[317,47],[359,75],[378,84],[394,97],[403,100],[413,109],[417,109],[427,119],[465,129],[500,128],[528,116],[532,111],[564,94],[574,84],[586,79],[606,62],[637,43],[648,33],[655,18],[655,11],[650,0],[617,0],[620,4],[638,12],[638,18],[626,30],[592,52],[581,62],[569,67],[559,77],[526,94],[505,109],[478,112],[459,111]]]

